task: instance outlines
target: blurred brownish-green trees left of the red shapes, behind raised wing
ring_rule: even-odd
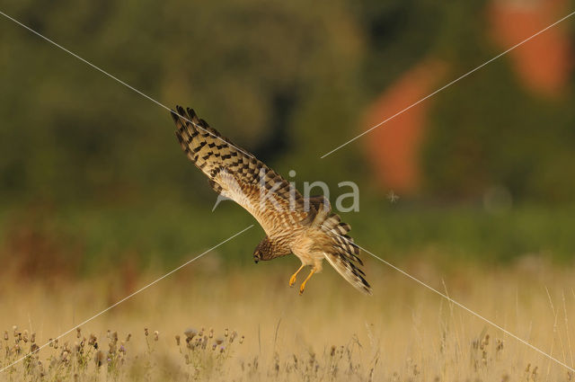
[[[194,107],[272,164],[293,152],[296,166],[339,142],[326,133],[350,131],[357,113],[363,49],[345,5],[60,1],[6,12],[159,102]],[[0,28],[0,192],[190,191],[201,175],[182,161],[167,111],[13,22]]]

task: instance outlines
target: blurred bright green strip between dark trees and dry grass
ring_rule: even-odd
[[[493,266],[538,257],[569,264],[575,248],[573,207],[522,206],[488,213],[477,206],[380,203],[344,218],[359,245],[398,265],[425,258],[447,269],[461,263]],[[215,263],[222,270],[254,266],[252,251],[265,235],[233,202],[223,202],[213,213],[171,200],[105,209],[31,205],[0,216],[0,271],[15,267],[17,274],[50,276],[121,271],[126,266],[172,269],[250,225],[254,226],[210,251],[202,262],[202,267]],[[391,271],[367,253],[361,257],[368,275]],[[295,256],[277,262],[290,269],[299,265]],[[265,269],[270,264],[257,266]]]

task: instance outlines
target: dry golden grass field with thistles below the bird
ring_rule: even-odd
[[[0,380],[570,381],[525,344],[368,261],[374,296],[334,271],[299,297],[295,259],[218,271],[217,253],[160,281],[0,374]],[[573,269],[526,258],[505,269],[403,268],[568,365]],[[0,364],[74,327],[159,274],[0,280]],[[5,331],[5,332],[4,332]]]

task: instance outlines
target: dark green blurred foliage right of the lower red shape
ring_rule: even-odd
[[[488,71],[489,82],[471,76],[438,94],[421,153],[429,194],[462,199],[502,185],[516,200],[572,202],[575,94],[561,101],[529,95],[504,61]]]

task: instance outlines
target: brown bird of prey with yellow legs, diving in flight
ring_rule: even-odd
[[[252,214],[266,233],[253,252],[254,262],[294,253],[302,265],[289,279],[310,266],[311,271],[299,288],[319,271],[323,259],[356,289],[371,294],[371,287],[358,257],[359,248],[349,237],[349,224],[332,213],[323,196],[304,198],[288,181],[257,160],[252,154],[222,137],[205,120],[188,108],[172,111],[176,137],[190,161],[208,176],[218,194],[234,200]]]

